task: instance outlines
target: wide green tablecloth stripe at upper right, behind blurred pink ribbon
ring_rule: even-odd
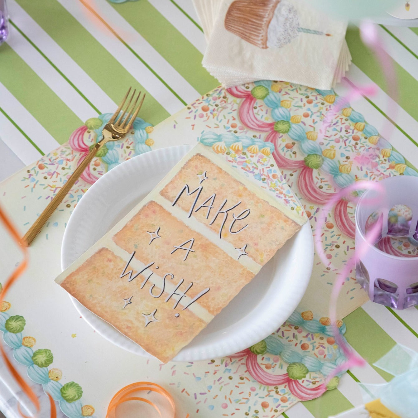
[[[346,39],[353,57],[353,63],[384,92],[389,95],[392,94],[387,86],[382,65],[377,61],[373,52],[362,43],[358,29],[350,27],[347,30]],[[397,83],[396,94],[398,97],[392,97],[392,99],[396,100],[405,112],[408,112],[418,121],[418,106],[411,105],[416,102],[418,97],[418,80],[411,76],[408,71],[403,69],[389,55],[387,55],[387,59],[393,65],[397,77],[396,80],[390,80],[390,83]]]

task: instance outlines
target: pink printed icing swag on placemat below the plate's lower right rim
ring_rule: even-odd
[[[283,373],[283,375],[272,375],[266,372],[261,368],[260,364],[258,364],[257,355],[249,349],[245,349],[229,357],[237,358],[243,356],[247,356],[245,365],[247,366],[248,373],[262,385],[275,386],[287,384],[292,395],[300,400],[311,400],[326,392],[326,385],[324,383],[315,387],[305,387],[298,380],[291,379],[288,373]]]

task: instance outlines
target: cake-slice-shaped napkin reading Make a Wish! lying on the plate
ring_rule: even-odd
[[[258,138],[204,133],[56,282],[168,362],[307,220],[273,150]]]

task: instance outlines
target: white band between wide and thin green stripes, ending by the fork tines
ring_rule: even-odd
[[[87,75],[87,73],[70,58],[66,52],[31,18],[23,8],[10,0],[10,15],[14,23],[25,33],[30,34],[31,41],[36,39],[36,46],[50,59],[65,76],[94,104],[101,112],[111,112],[117,105]],[[95,112],[89,117],[94,116]]]

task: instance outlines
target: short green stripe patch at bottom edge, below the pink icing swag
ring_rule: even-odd
[[[327,390],[319,398],[302,403],[315,418],[327,418],[354,407],[338,389]]]

